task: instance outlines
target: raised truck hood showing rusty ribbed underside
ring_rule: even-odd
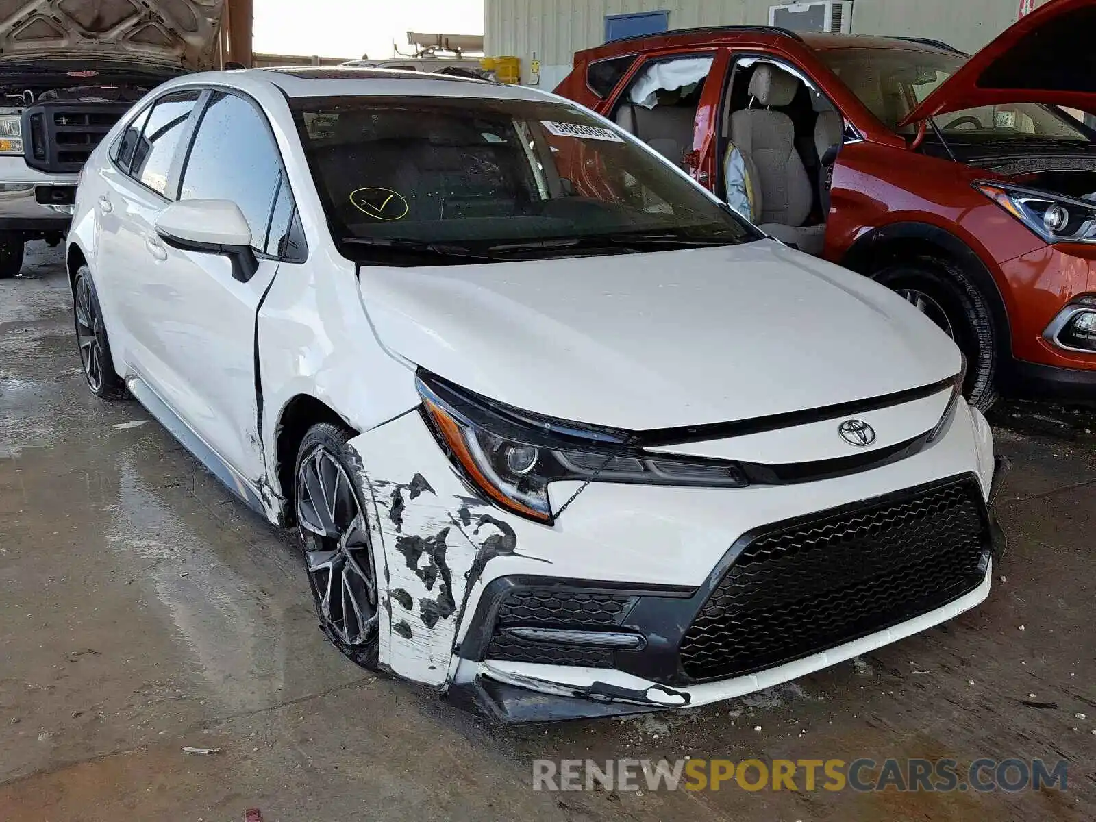
[[[0,0],[0,65],[133,60],[213,68],[226,0]]]

